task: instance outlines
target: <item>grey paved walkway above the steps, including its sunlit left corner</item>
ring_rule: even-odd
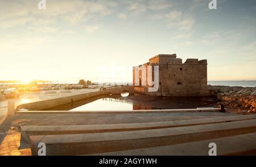
[[[12,133],[6,133],[9,127],[27,126],[63,126],[63,125],[99,125],[99,124],[116,124],[116,123],[146,123],[146,122],[160,122],[160,121],[178,121],[188,119],[201,118],[226,118],[232,115],[229,113],[125,113],[125,114],[16,114],[11,117],[3,119],[0,125],[0,143],[1,154],[10,155],[12,152],[21,155],[29,155],[30,149],[17,149],[19,148],[20,132],[16,129]],[[241,116],[241,115],[237,115]],[[13,140],[12,140],[13,139]],[[15,144],[17,147],[7,148],[9,145]],[[8,144],[10,143],[10,144]]]

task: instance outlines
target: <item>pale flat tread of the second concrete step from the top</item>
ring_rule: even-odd
[[[141,134],[146,134],[147,136],[159,137],[167,135],[181,135],[189,134],[195,132],[207,132],[207,131],[217,131],[217,130],[229,130],[237,129],[243,127],[254,127],[256,126],[256,121],[254,119],[246,121],[236,121],[236,122],[225,122],[218,124],[210,125],[196,125],[196,126],[185,126],[185,127],[171,127],[166,129],[157,129],[157,130],[138,130],[138,131],[123,131],[123,132],[106,132],[106,133],[92,133],[92,134],[70,134],[70,136],[81,136],[85,140],[83,142],[94,142],[102,140],[123,140],[123,139],[134,139],[134,138],[143,138],[145,136]],[[157,132],[157,133],[156,133]],[[101,138],[102,134],[110,134],[109,138]],[[120,135],[119,137],[119,134]],[[57,138],[63,138],[62,143],[75,142],[75,140],[65,140],[64,137],[68,135],[37,135],[31,136],[32,142],[44,142],[44,143],[55,143],[53,142]],[[125,137],[126,136],[126,137]],[[41,141],[35,140],[35,138],[42,138]],[[58,139],[58,140],[60,140]]]

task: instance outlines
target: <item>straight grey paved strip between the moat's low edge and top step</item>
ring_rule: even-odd
[[[73,113],[73,114],[16,114],[7,117],[1,126],[58,126],[58,125],[104,125],[119,123],[163,122],[197,118],[229,117],[230,113]],[[1,132],[0,126],[0,132]]]

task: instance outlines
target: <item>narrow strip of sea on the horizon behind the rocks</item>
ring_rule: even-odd
[[[256,80],[228,80],[228,81],[208,81],[210,85],[256,87]]]

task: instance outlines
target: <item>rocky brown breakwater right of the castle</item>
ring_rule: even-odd
[[[228,87],[209,85],[211,95],[216,96],[225,108],[248,110],[256,113],[256,87]]]

